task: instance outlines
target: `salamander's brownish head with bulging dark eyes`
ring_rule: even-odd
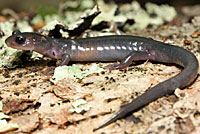
[[[6,39],[9,47],[19,50],[35,50],[35,47],[45,47],[46,37],[36,33],[21,33],[19,30],[13,31],[12,35]]]

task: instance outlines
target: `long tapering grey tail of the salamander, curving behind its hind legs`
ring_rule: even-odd
[[[199,64],[196,57],[191,52],[188,52],[179,47],[176,48],[177,49],[172,50],[174,52],[168,53],[167,55],[169,55],[170,59],[172,59],[172,63],[179,64],[183,66],[184,69],[176,76],[159,83],[158,85],[149,89],[146,93],[133,100],[131,103],[121,107],[121,109],[118,112],[116,112],[111,118],[109,118],[100,126],[94,128],[94,131],[113,123],[114,121],[124,117],[130,112],[137,111],[138,109],[144,107],[150,102],[166,94],[173,93],[176,88],[183,88],[194,81],[199,68]],[[157,60],[159,60],[159,57],[157,57]],[[169,61],[163,60],[162,62]]]

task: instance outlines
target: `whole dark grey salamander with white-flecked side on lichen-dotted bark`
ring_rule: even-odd
[[[123,69],[133,61],[151,60],[177,64],[183,67],[176,76],[150,88],[131,103],[124,105],[100,126],[98,130],[114,121],[135,112],[150,102],[172,94],[176,88],[190,85],[197,77],[199,64],[191,52],[170,44],[128,35],[111,35],[82,39],[55,39],[37,33],[21,33],[16,30],[6,39],[9,47],[20,50],[33,50],[44,56],[61,60],[60,66],[69,61],[120,61],[106,66],[108,69]]]

